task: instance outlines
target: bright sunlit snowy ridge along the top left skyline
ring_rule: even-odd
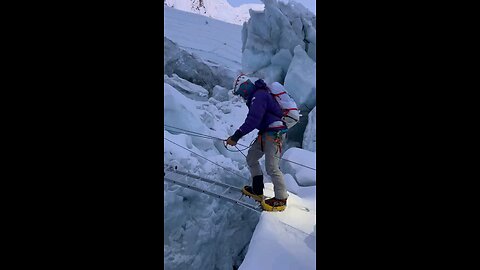
[[[201,14],[221,21],[243,24],[250,18],[249,9],[263,10],[263,4],[244,4],[232,7],[226,0],[163,0],[164,5]]]

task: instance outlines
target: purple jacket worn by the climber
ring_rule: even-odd
[[[282,121],[283,113],[280,105],[278,105],[267,89],[256,87],[253,94],[247,99],[247,107],[249,109],[247,119],[232,136],[233,140],[237,141],[254,129],[258,129],[259,133],[263,133],[285,128],[268,128],[268,125],[271,123]]]

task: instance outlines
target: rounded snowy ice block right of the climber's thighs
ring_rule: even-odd
[[[301,165],[281,160],[280,167],[283,173],[291,174],[300,186],[314,186],[316,185],[316,171],[310,168],[315,169],[316,157],[314,152],[292,147],[283,154],[282,158]]]

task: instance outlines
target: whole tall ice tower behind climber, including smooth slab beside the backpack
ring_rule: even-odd
[[[265,10],[251,10],[242,28],[242,69],[285,85],[303,115],[288,137],[302,143],[308,113],[316,106],[316,16],[293,1],[262,2]]]

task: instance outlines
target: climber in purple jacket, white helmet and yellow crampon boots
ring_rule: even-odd
[[[227,144],[235,146],[241,137],[254,129],[259,130],[258,137],[247,154],[252,186],[244,186],[242,192],[261,202],[266,211],[283,211],[287,206],[288,193],[279,168],[282,143],[287,131],[282,121],[282,109],[261,79],[255,80],[242,74],[234,82],[233,93],[246,100],[249,111],[243,125],[227,139]],[[264,154],[265,169],[272,179],[275,192],[275,197],[268,200],[263,197],[263,173],[258,162]]]

